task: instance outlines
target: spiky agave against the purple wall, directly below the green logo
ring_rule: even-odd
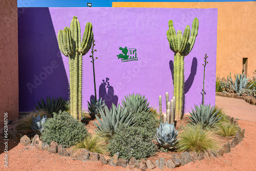
[[[138,113],[138,112],[148,112],[150,111],[150,103],[147,102],[145,96],[140,94],[132,94],[124,96],[125,99],[122,99],[123,108],[127,108],[129,112]]]

